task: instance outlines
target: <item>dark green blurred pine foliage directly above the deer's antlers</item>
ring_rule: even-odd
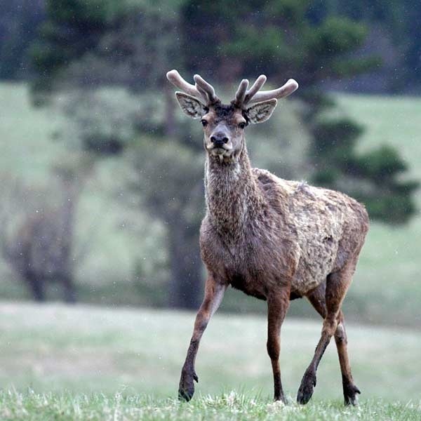
[[[367,29],[329,15],[312,22],[308,1],[236,2],[212,6],[188,1],[183,9],[186,58],[193,70],[213,69],[218,79],[269,74],[275,81],[293,75],[302,86],[328,77],[369,69],[375,59],[352,60],[348,53],[363,44]]]

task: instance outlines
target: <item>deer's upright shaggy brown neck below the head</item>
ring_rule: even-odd
[[[218,156],[207,156],[205,196],[208,218],[217,231],[226,239],[241,239],[246,224],[262,206],[246,146],[236,161],[220,162]]]

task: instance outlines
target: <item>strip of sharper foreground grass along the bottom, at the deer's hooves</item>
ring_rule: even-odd
[[[307,406],[283,406],[266,399],[241,394],[201,396],[196,401],[180,403],[175,399],[150,399],[145,396],[116,394],[25,394],[0,392],[2,420],[401,420],[418,421],[419,405],[368,401],[357,408],[339,403],[317,402]]]

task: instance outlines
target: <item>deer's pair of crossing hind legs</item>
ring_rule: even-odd
[[[347,402],[348,399],[349,403],[356,402],[355,394],[359,393],[359,389],[354,385],[352,380],[347,354],[345,326],[343,324],[343,314],[341,312],[342,301],[345,298],[345,294],[351,283],[354,267],[354,264],[348,265],[340,272],[329,274],[326,279],[326,286],[319,286],[319,288],[314,290],[308,297],[314,308],[316,308],[317,312],[323,317],[323,328],[312,362],[309,364],[302,377],[300,389],[298,389],[297,394],[298,403],[305,404],[311,399],[314,387],[316,386],[317,368],[319,367],[321,357],[330,342],[330,338],[332,338],[333,335],[335,335],[335,342],[340,359],[345,401]],[[346,392],[345,387],[349,387]],[[352,390],[354,390],[353,394],[351,392]]]

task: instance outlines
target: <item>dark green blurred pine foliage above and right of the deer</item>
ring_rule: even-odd
[[[367,72],[378,62],[373,56],[352,55],[363,46],[368,28],[338,15],[341,10],[362,20],[362,2],[357,10],[340,3],[312,7],[307,1],[283,0],[259,8],[254,1],[242,1],[241,7],[231,8],[218,0],[208,8],[204,0],[189,1],[183,29],[185,48],[194,53],[186,60],[192,71],[213,68],[218,78],[232,81],[261,72],[276,85],[295,77],[308,105],[304,121],[314,135],[313,181],[360,199],[373,219],[406,222],[415,213],[412,194],[418,183],[401,180],[407,168],[399,153],[380,147],[359,154],[356,142],[363,128],[349,119],[324,116],[334,103],[323,93],[323,83]],[[392,8],[382,11],[376,2],[369,10],[372,20],[394,18]]]

